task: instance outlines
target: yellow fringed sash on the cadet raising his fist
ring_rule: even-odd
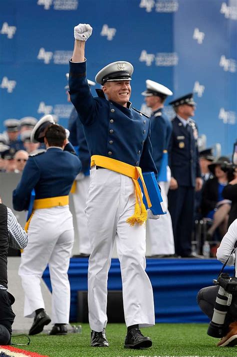
[[[135,223],[138,223],[140,225],[145,223],[145,221],[147,220],[147,212],[146,212],[145,205],[143,204],[143,201],[142,201],[141,189],[140,189],[140,185],[137,181],[138,178],[140,178],[140,181],[142,183],[142,187],[144,190],[144,195],[145,195],[148,207],[151,207],[151,203],[150,203],[149,195],[148,195],[145,183],[144,183],[141,168],[139,166],[132,166],[132,165],[129,165],[128,163],[118,161],[118,160],[115,160],[110,157],[101,156],[101,155],[92,155],[90,159],[91,159],[91,161],[90,161],[91,167],[93,165],[97,165],[97,166],[107,168],[111,171],[121,173],[125,176],[131,177],[133,184],[135,186],[136,203],[135,203],[134,215],[129,217],[126,220],[126,223],[128,223],[130,226],[134,226]],[[139,201],[140,201],[140,203],[139,203]]]

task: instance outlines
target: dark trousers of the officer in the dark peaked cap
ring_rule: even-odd
[[[194,195],[194,187],[188,186],[178,186],[177,190],[168,192],[175,253],[181,257],[187,257],[191,253]]]

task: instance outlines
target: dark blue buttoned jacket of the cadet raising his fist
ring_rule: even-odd
[[[70,64],[69,94],[83,124],[91,155],[107,156],[157,175],[152,159],[150,121],[142,113],[93,97],[86,79],[86,61]]]

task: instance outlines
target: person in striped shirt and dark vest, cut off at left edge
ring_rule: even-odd
[[[15,299],[7,291],[8,247],[23,249],[27,241],[27,234],[0,198],[0,345],[11,344],[11,325],[15,317],[11,308]]]

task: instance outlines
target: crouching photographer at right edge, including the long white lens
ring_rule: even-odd
[[[235,243],[237,241],[237,219],[229,226],[224,235],[216,257],[223,264],[235,264],[235,277],[237,262],[235,262]],[[218,280],[218,279],[217,279]],[[222,279],[223,280],[223,279]],[[218,280],[219,281],[219,280]],[[222,290],[221,290],[222,289]],[[231,301],[231,302],[230,302]],[[229,294],[220,287],[220,284],[208,286],[199,290],[197,302],[200,309],[209,317],[211,323],[207,334],[213,337],[221,337],[217,346],[234,346],[237,344],[237,295]],[[230,306],[228,306],[230,303]]]

